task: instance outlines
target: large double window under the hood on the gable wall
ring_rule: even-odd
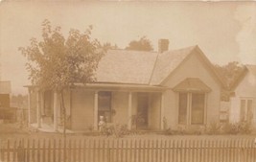
[[[204,111],[205,111],[205,94],[179,93],[178,124],[203,125],[204,114],[205,114]]]

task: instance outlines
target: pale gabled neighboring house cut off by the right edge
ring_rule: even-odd
[[[256,127],[256,65],[246,65],[230,97],[230,123],[246,121]]]

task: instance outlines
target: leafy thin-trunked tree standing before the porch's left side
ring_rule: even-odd
[[[66,110],[63,91],[76,82],[95,81],[94,73],[105,51],[97,39],[91,38],[92,26],[81,33],[70,30],[65,37],[60,27],[52,28],[49,20],[42,23],[42,40],[31,39],[28,47],[19,50],[28,59],[26,63],[29,79],[42,91],[54,90],[58,93],[63,116],[63,134],[66,129]]]

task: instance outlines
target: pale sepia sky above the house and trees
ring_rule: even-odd
[[[40,39],[44,19],[70,29],[85,31],[101,42],[117,44],[146,35],[157,51],[160,38],[170,41],[170,50],[198,45],[218,64],[239,61],[256,64],[256,2],[0,2],[1,80],[12,81],[13,94],[26,94],[30,84],[24,58],[18,47]]]

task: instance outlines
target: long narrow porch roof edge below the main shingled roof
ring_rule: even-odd
[[[92,90],[106,91],[136,91],[136,92],[161,92],[167,90],[166,86],[152,86],[147,84],[128,84],[128,83],[109,83],[109,82],[93,82],[93,83],[75,83],[76,87],[83,87]]]

